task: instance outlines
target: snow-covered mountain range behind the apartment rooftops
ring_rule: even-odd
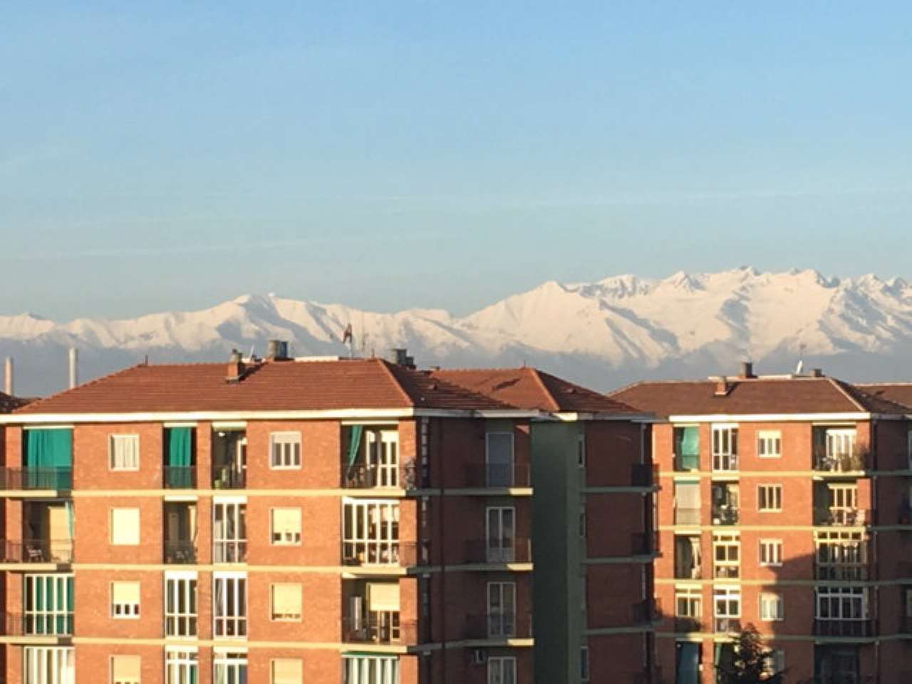
[[[80,350],[80,380],[140,361],[223,360],[291,342],[296,356],[408,347],[420,367],[516,366],[562,374],[594,389],[637,378],[733,372],[752,359],[761,372],[822,366],[847,379],[912,377],[912,285],[875,275],[828,278],[816,271],[750,267],[664,279],[615,275],[596,283],[543,285],[469,316],[438,309],[379,314],[342,306],[244,295],[202,311],[125,320],[0,316],[0,355],[16,359],[16,393],[61,389],[67,348]]]

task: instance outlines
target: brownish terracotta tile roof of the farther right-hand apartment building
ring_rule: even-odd
[[[610,396],[660,416],[775,413],[896,412],[896,405],[877,400],[834,378],[729,378],[731,391],[716,396],[714,380],[640,382]]]

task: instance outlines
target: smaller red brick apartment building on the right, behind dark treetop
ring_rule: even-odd
[[[912,681],[912,386],[819,371],[643,382],[664,681],[708,684],[752,623],[786,681]]]

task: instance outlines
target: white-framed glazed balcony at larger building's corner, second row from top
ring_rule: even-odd
[[[399,503],[345,499],[342,559],[346,565],[399,565]]]

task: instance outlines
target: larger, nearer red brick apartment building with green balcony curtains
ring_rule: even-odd
[[[532,368],[140,365],[0,432],[5,681],[655,671],[648,425]]]

